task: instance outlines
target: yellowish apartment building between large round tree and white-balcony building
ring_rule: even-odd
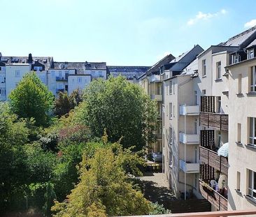
[[[148,144],[148,154],[151,154],[152,160],[162,162],[162,79],[160,77],[161,66],[170,63],[175,57],[172,54],[166,55],[163,59],[155,63],[145,73],[140,75],[138,84],[143,87],[145,93],[151,99],[157,101],[159,117],[157,119],[157,130],[155,132],[156,142]]]

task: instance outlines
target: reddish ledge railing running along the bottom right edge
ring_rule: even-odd
[[[250,216],[256,214],[256,209],[250,210],[234,210],[234,211],[206,211],[198,213],[185,214],[164,214],[164,215],[148,215],[147,217],[227,217],[227,216]],[[122,217],[145,217],[144,216],[122,216]]]

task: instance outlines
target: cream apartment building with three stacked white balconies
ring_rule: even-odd
[[[173,193],[185,199],[197,187],[199,174],[199,105],[191,90],[197,55],[203,51],[196,45],[161,67],[164,177]]]

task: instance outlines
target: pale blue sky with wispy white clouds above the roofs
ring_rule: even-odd
[[[256,25],[255,0],[0,0],[3,56],[152,66]]]

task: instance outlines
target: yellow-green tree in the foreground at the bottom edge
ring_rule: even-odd
[[[117,149],[114,145],[114,149]],[[122,147],[118,147],[121,150]],[[52,211],[59,216],[122,216],[150,213],[143,194],[129,183],[123,170],[122,153],[112,146],[101,147],[92,158],[85,154],[80,163],[80,182],[68,195],[68,202],[56,202]],[[125,155],[124,155],[125,156]]]

